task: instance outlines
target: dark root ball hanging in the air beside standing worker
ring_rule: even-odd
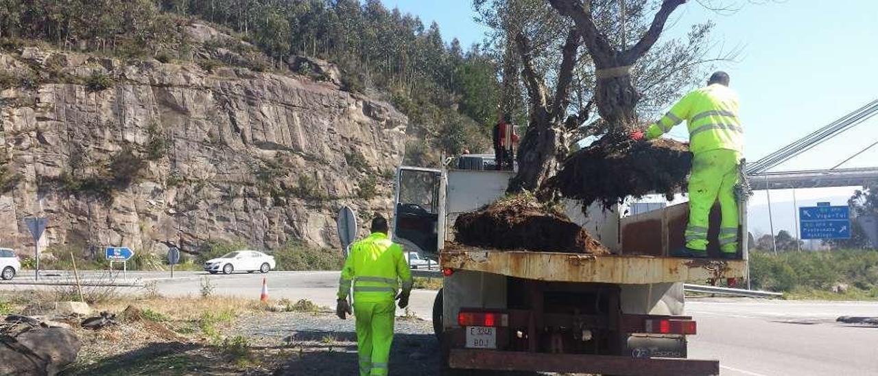
[[[666,139],[633,141],[604,137],[571,155],[550,184],[583,207],[610,207],[628,196],[683,192],[692,168],[687,145]]]

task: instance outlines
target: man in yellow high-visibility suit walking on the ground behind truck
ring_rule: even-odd
[[[393,342],[394,300],[399,307],[408,306],[412,292],[412,272],[408,269],[402,248],[387,238],[387,220],[376,216],[371,235],[355,242],[342,268],[339,280],[338,305],[335,313],[342,320],[350,314],[348,292],[354,287],[356,347],[360,375],[386,375]],[[397,295],[399,281],[402,291]]]

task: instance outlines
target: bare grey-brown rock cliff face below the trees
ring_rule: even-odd
[[[26,253],[32,215],[83,251],[327,246],[340,206],[391,211],[407,119],[331,80],[37,47],[0,72],[0,246]]]

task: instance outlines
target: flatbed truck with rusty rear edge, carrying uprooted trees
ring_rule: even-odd
[[[395,177],[392,238],[435,258],[443,274],[433,326],[445,372],[719,373],[716,360],[687,358],[697,323],[683,293],[687,281],[745,277],[745,241],[741,259],[718,257],[718,207],[708,258],[669,257],[684,243],[686,203],[637,215],[625,215],[622,204],[566,203],[608,255],[469,247],[453,242],[451,225],[503,197],[514,172],[462,166],[475,167],[402,166]],[[739,239],[747,239],[740,207]]]

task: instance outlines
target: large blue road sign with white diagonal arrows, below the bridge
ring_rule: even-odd
[[[851,211],[847,206],[817,206],[799,208],[799,228],[802,239],[850,239]]]

